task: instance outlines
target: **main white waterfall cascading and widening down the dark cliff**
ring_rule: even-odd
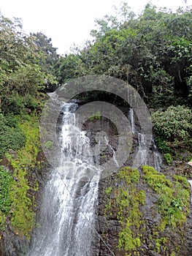
[[[92,247],[100,170],[93,166],[91,157],[82,154],[90,150],[90,143],[76,126],[76,109],[77,104],[64,104],[59,136],[63,157],[45,186],[40,227],[28,256],[95,255]]]

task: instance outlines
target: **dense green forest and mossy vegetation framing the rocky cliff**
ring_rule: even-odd
[[[73,78],[110,75],[129,83],[150,109],[166,164],[191,159],[191,20],[190,6],[172,12],[147,4],[135,15],[123,3],[116,16],[96,20],[92,41],[60,56],[45,34],[25,34],[20,19],[0,14],[0,233],[9,222],[27,238],[34,228],[38,184],[31,185],[28,169],[43,165],[39,116],[46,93]]]

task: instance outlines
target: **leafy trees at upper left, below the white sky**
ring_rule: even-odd
[[[44,58],[57,61],[55,49],[51,51],[47,42],[46,52],[38,42],[22,31],[19,19],[9,20],[0,13],[0,108],[3,113],[20,113],[28,105],[28,95],[36,97],[37,91],[57,83],[53,72],[47,71],[49,61],[45,61],[48,66],[39,61]]]

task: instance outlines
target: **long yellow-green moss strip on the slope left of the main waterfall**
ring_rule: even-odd
[[[30,189],[37,191],[38,183],[36,182],[34,187],[30,187],[26,177],[27,170],[35,167],[39,152],[39,119],[36,116],[31,116],[20,120],[19,126],[26,135],[26,145],[20,148],[16,158],[11,154],[6,154],[14,169],[12,189],[9,191],[9,198],[12,202],[11,211],[7,213],[7,217],[10,218],[15,233],[29,239],[31,230],[35,226],[34,199],[29,197],[29,191]]]

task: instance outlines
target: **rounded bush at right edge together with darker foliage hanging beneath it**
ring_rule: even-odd
[[[180,148],[183,148],[183,151],[191,151],[192,111],[190,108],[180,105],[170,106],[166,110],[155,111],[151,116],[154,132],[157,135],[155,143],[164,153],[168,165],[171,164],[174,156],[174,159],[180,158]]]

